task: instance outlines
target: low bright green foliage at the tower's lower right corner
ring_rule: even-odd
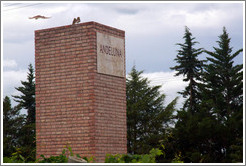
[[[132,155],[132,154],[107,154],[105,163],[155,163],[156,157],[162,155],[159,149],[151,149],[149,154]]]

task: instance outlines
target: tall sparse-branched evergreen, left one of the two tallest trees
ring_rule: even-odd
[[[200,154],[198,147],[201,145],[203,139],[203,130],[199,124],[203,118],[206,118],[206,113],[200,110],[201,103],[201,75],[204,61],[198,59],[198,55],[203,52],[202,48],[195,48],[198,43],[188,27],[185,27],[185,34],[183,39],[184,44],[178,43],[180,46],[175,61],[178,63],[170,69],[176,70],[175,76],[183,75],[183,81],[188,82],[183,92],[179,92],[184,98],[187,98],[183,109],[177,112],[177,122],[172,131],[172,137],[168,137],[168,141],[172,142],[171,153],[172,156],[168,157],[170,162],[179,162],[182,158],[185,162],[198,162],[196,154]],[[200,127],[200,128],[199,128]],[[203,144],[202,144],[203,145]],[[168,150],[170,151],[170,149]],[[199,152],[199,153],[197,153]],[[165,160],[164,160],[165,161]]]

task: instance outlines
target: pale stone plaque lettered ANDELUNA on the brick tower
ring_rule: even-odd
[[[124,39],[97,32],[97,72],[125,77]]]

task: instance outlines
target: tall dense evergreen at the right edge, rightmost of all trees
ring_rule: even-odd
[[[233,59],[243,50],[232,53],[226,28],[217,41],[219,47],[206,51],[210,57],[204,72],[204,101],[210,105],[210,112],[223,125],[221,159],[223,162],[242,162],[243,140],[243,65],[234,65]],[[235,155],[236,153],[238,155]],[[241,155],[241,156],[240,156]]]

